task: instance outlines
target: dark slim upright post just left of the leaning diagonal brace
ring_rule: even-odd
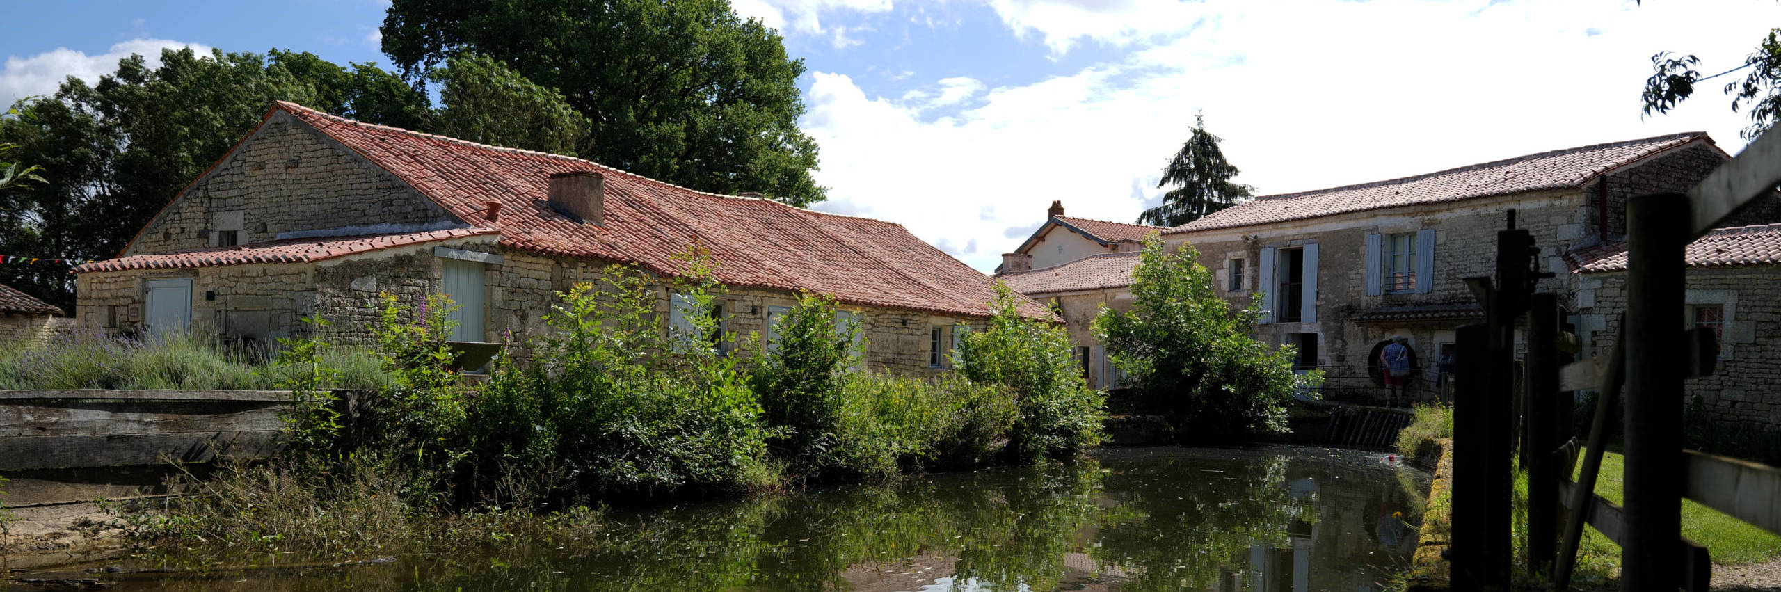
[[[1558,555],[1558,296],[1533,294],[1528,305],[1526,389],[1528,571],[1546,572]],[[1569,478],[1569,474],[1565,474]]]

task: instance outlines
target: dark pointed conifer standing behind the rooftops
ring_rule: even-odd
[[[1175,152],[1175,157],[1163,168],[1163,178],[1156,182],[1156,187],[1175,185],[1175,189],[1163,194],[1161,205],[1138,214],[1138,223],[1181,226],[1227,209],[1256,191],[1256,187],[1231,182],[1238,169],[1218,150],[1222,139],[1206,130],[1202,114],[1193,114],[1191,132],[1188,143],[1181,144],[1181,152]]]

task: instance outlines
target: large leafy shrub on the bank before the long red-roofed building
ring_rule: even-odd
[[[607,267],[604,289],[577,284],[547,319],[529,366],[495,360],[472,401],[474,489],[493,501],[590,492],[732,489],[771,476],[760,465],[760,405],[712,348],[663,332],[652,278]],[[709,308],[709,275],[677,284]],[[695,335],[714,319],[695,317]]]

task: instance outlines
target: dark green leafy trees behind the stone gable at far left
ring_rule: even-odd
[[[353,70],[310,53],[141,55],[96,84],[68,78],[53,96],[0,121],[0,143],[43,166],[45,184],[0,196],[0,253],[107,259],[182,187],[230,150],[272,100],[292,100],[374,123],[429,116],[424,93],[370,64]],[[69,308],[68,266],[0,266],[0,282]]]

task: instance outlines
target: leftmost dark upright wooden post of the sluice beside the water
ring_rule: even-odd
[[[1478,590],[1480,553],[1485,549],[1485,506],[1489,496],[1484,483],[1491,480],[1487,471],[1487,432],[1485,401],[1491,392],[1485,385],[1489,364],[1485,355],[1489,337],[1484,325],[1466,325],[1455,332],[1453,353],[1453,537],[1450,558],[1453,562],[1453,588]]]

